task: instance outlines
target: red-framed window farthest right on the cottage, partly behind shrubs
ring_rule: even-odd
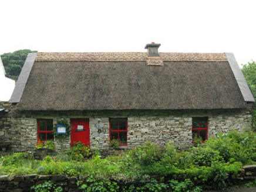
[[[200,137],[203,141],[208,139],[207,134],[208,119],[207,117],[192,118],[192,137]]]

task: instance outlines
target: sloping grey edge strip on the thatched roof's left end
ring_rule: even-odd
[[[26,61],[22,67],[21,74],[19,74],[18,81],[15,85],[14,92],[12,92],[12,97],[9,102],[17,103],[21,101],[21,96],[23,94],[26,81],[28,81],[28,77],[33,67],[33,63],[36,59],[36,54],[37,53],[29,53],[28,57],[26,57]]]

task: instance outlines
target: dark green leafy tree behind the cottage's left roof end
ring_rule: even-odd
[[[19,73],[21,73],[21,68],[25,63],[28,53],[36,51],[31,51],[29,49],[18,50],[14,53],[4,53],[1,55],[2,62],[5,66],[6,75],[14,80],[17,80]]]

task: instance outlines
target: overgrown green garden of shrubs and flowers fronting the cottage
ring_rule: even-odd
[[[38,145],[41,145],[40,143]],[[54,149],[53,143],[47,143]],[[37,146],[38,148],[38,146]],[[39,147],[40,148],[40,147]],[[100,157],[83,143],[55,156],[35,159],[33,152],[13,153],[0,159],[0,174],[8,176],[83,176],[76,182],[80,191],[203,191],[237,187],[240,183],[256,187],[256,180],[239,180],[242,166],[256,164],[256,133],[252,131],[217,135],[193,146],[177,150],[145,143],[132,150]],[[52,181],[38,184],[34,191],[64,191]]]

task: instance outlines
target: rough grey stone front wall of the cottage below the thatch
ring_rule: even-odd
[[[53,124],[56,124],[60,118],[89,118],[90,147],[93,150],[97,146],[104,152],[109,150],[109,118],[127,118],[127,146],[120,148],[133,148],[147,141],[160,145],[174,142],[177,148],[187,148],[192,143],[192,117],[197,116],[208,117],[208,137],[233,129],[241,131],[251,128],[251,114],[248,109],[230,111],[129,110],[12,112],[11,128],[5,126],[3,131],[5,135],[11,136],[14,151],[33,150],[37,142],[37,119],[53,119]],[[70,138],[64,145],[60,145],[58,140],[55,144],[58,150],[69,149]]]

